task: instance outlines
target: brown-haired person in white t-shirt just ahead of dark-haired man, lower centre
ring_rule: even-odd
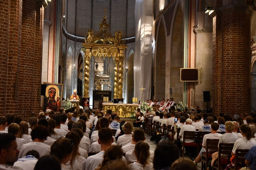
[[[131,143],[131,141],[132,141],[131,133],[133,131],[133,125],[131,124],[131,122],[125,122],[122,129],[125,134],[118,137],[118,139],[116,141],[117,146],[124,146],[126,144]]]

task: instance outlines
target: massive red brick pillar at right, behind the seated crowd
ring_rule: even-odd
[[[250,102],[250,11],[245,2],[223,9],[218,4],[213,13],[213,112],[241,114]]]

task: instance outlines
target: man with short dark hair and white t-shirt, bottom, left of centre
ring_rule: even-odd
[[[103,118],[101,118],[101,119],[103,119]],[[108,127],[99,129],[98,138],[99,138],[98,143],[101,146],[101,152],[99,152],[95,155],[89,156],[86,159],[85,170],[94,170],[99,165],[101,165],[105,150],[109,146],[111,146],[111,144],[114,142],[112,131]]]

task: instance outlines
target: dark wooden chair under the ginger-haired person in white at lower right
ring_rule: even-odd
[[[234,143],[219,143],[218,159],[213,164],[213,169],[221,170],[221,167],[226,167],[230,164],[231,152],[233,150]],[[220,159],[221,154],[228,155],[228,159]]]

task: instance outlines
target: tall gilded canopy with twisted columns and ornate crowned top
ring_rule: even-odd
[[[110,33],[109,24],[106,22],[106,16],[98,24],[99,31],[94,34],[92,29],[88,30],[85,35],[85,43],[82,43],[84,52],[84,80],[83,80],[83,98],[89,98],[89,66],[91,57],[104,57],[114,58],[115,62],[115,77],[114,77],[114,99],[123,99],[123,61],[124,61],[124,50],[127,48],[124,45],[125,38],[122,35],[122,31],[116,31],[115,36]],[[97,82],[95,84],[96,89],[100,89],[101,84],[108,82]],[[111,86],[108,83],[109,86]],[[98,87],[97,87],[98,86]]]

